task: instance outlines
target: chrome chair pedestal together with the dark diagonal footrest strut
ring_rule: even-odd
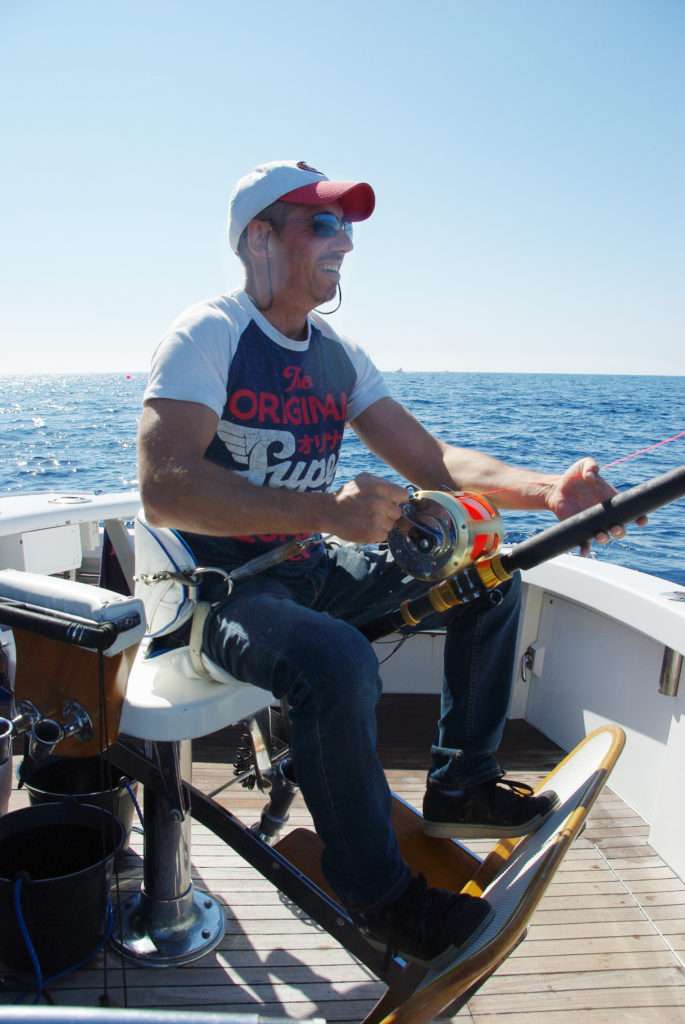
[[[388,957],[371,945],[347,910],[270,846],[270,838],[262,837],[187,781],[189,740],[145,742],[144,753],[120,740],[105,756],[144,786],[142,888],[124,900],[114,929],[114,945],[123,955],[153,967],[179,966],[210,952],[221,941],[221,905],[195,890],[190,882],[192,817],[395,992],[409,994],[416,988],[424,968]]]

